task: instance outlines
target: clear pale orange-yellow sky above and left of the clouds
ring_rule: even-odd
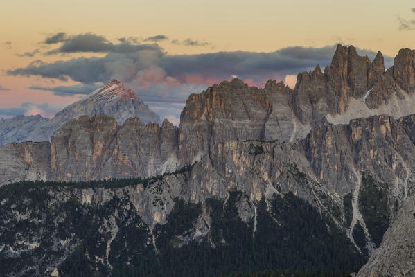
[[[3,1],[0,8],[0,108],[22,102],[69,103],[77,96],[55,96],[30,86],[51,86],[51,80],[10,77],[8,69],[34,60],[68,60],[70,55],[18,57],[40,49],[46,35],[96,33],[115,42],[118,37],[166,35],[170,39],[197,39],[206,46],[177,46],[160,42],[172,54],[216,51],[270,52],[287,46],[321,47],[335,43],[380,50],[394,56],[400,48],[415,48],[415,31],[398,30],[399,19],[415,19],[413,0],[315,1]],[[10,44],[5,44],[10,42]],[[82,56],[88,56],[82,54]],[[90,54],[89,54],[90,56]],[[53,85],[74,82],[55,80]]]

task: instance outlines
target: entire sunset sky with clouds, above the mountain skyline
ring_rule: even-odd
[[[112,78],[176,125],[190,93],[238,77],[294,87],[330,64],[415,48],[413,0],[3,1],[0,116],[52,117]]]

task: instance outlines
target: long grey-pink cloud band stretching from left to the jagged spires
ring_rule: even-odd
[[[103,42],[103,39],[98,39]],[[148,89],[157,84],[178,87],[181,84],[212,84],[228,80],[232,75],[251,78],[255,84],[267,79],[284,80],[313,69],[317,64],[331,62],[335,46],[321,48],[294,46],[269,53],[234,51],[197,55],[166,55],[161,48],[127,49],[125,53],[108,53],[104,57],[79,57],[67,61],[32,62],[29,66],[8,71],[8,75],[37,75],[44,78],[74,80],[84,84],[106,83],[112,78],[133,85],[134,89]],[[371,59],[376,52],[357,49]],[[387,65],[393,62],[385,57]]]

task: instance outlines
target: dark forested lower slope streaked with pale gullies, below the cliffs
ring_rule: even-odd
[[[258,163],[262,155],[252,156]],[[193,189],[206,189],[198,185],[204,167],[121,188],[116,181],[0,188],[3,274],[220,276],[263,268],[355,270],[364,262],[324,206],[278,190],[261,197],[262,180],[259,200],[237,184],[221,195],[206,187],[193,199]],[[290,168],[281,173],[294,188],[319,190],[305,177],[297,181]]]

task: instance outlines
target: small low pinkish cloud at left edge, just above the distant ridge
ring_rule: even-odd
[[[18,115],[35,116],[40,114],[43,117],[52,118],[55,114],[63,109],[65,105],[51,105],[48,103],[33,104],[24,102],[20,107],[0,108],[0,116],[12,117]]]

